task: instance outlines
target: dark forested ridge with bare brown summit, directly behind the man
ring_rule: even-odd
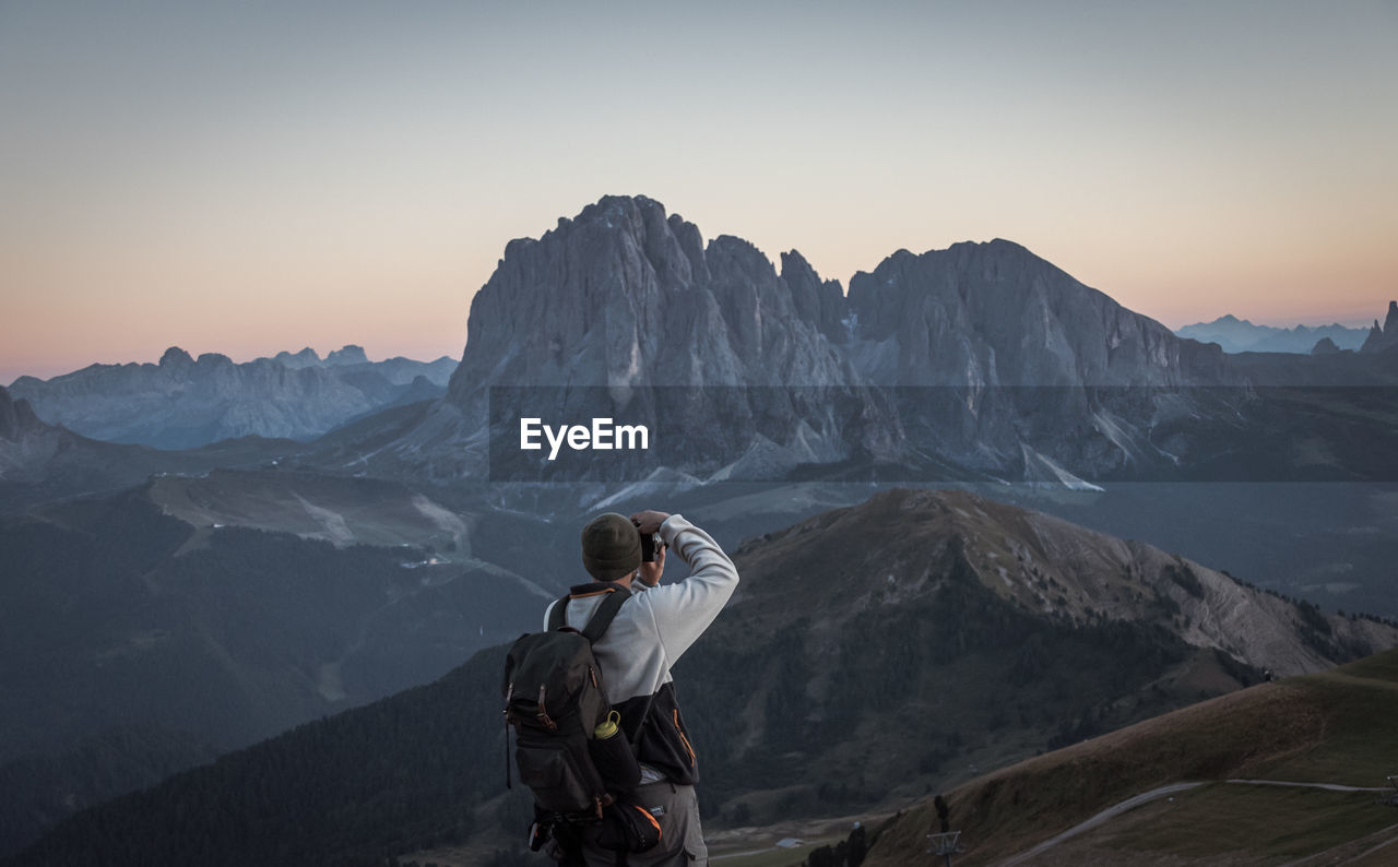
[[[1398,643],[1392,624],[959,491],[881,494],[735,562],[738,594],[675,670],[714,828],[899,803],[1262,668]],[[502,793],[502,659],[89,810],[10,863],[481,863],[528,821]]]

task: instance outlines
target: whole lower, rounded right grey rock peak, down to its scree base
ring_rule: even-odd
[[[899,250],[854,275],[849,308],[856,365],[902,386],[918,442],[1021,478],[1167,460],[1149,436],[1159,390],[1223,376],[1219,347],[1180,340],[1007,241]]]

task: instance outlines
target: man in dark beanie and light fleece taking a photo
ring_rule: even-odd
[[[654,562],[642,562],[640,537],[660,533]],[[644,807],[660,822],[656,849],[618,853],[584,842],[589,867],[625,863],[628,867],[707,864],[709,852],[699,826],[695,798],[698,764],[670,667],[709,628],[738,585],[738,572],[707,533],[679,515],[637,512],[626,517],[608,512],[583,527],[583,568],[596,579],[569,589],[563,619],[582,629],[608,592],[624,587],[611,626],[593,645],[603,670],[607,698],[621,712],[622,733],[636,744],[640,786],[626,800]],[[689,578],[660,586],[665,551],[689,566]],[[544,612],[545,629],[554,606]]]

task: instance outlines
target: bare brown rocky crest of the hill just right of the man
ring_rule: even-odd
[[[857,551],[849,538],[861,540]],[[884,491],[748,540],[734,557],[752,576],[740,604],[765,608],[773,631],[811,617],[814,632],[832,632],[871,607],[925,601],[963,580],[1037,617],[1079,628],[1163,626],[1187,645],[1281,674],[1342,661],[1353,654],[1345,640],[1391,646],[1398,638],[1391,626],[1331,615],[1336,642],[1307,642],[1307,615],[1295,603],[1159,548],[960,489]],[[839,592],[821,592],[829,587]]]

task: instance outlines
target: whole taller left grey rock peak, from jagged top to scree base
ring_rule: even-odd
[[[884,453],[898,440],[896,420],[826,336],[842,301],[839,284],[822,282],[797,253],[777,274],[742,239],[705,245],[657,201],[605,197],[537,241],[509,243],[471,303],[449,401],[470,420],[484,418],[498,385],[617,394],[688,386],[682,417],[647,404],[626,420],[685,438],[670,457],[686,468],[717,470],[755,439],[781,453],[777,464]],[[774,396],[788,386],[797,390]]]

